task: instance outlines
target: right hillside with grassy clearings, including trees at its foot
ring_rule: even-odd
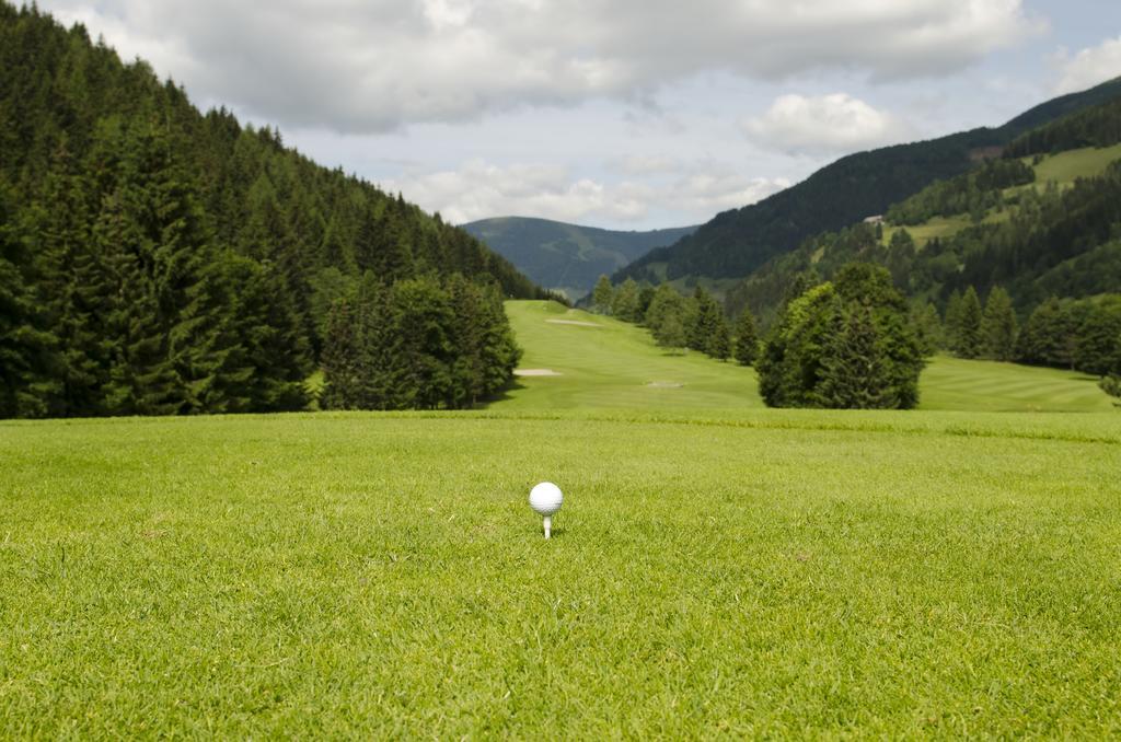
[[[881,224],[806,240],[731,290],[728,309],[781,324],[791,297],[855,261],[909,297],[925,352],[1076,369],[1121,396],[1121,105],[1028,132]]]

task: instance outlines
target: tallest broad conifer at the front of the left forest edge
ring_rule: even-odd
[[[214,253],[204,216],[175,146],[159,129],[109,128],[112,191],[93,239],[114,279],[108,334],[113,358],[108,411],[174,415],[214,411],[226,347],[220,325]]]

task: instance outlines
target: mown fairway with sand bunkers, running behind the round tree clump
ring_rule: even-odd
[[[509,302],[507,312],[526,349],[522,368],[546,368],[563,375],[524,378],[509,399],[493,409],[741,410],[762,406],[751,369],[698,353],[669,355],[633,325],[545,302]],[[684,386],[650,387],[651,381]],[[947,356],[933,359],[924,371],[921,406],[962,411],[1112,409],[1096,381],[1083,374]]]

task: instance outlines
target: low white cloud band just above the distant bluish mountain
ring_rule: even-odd
[[[651,212],[678,214],[682,224],[706,222],[790,185],[782,178],[745,178],[707,161],[677,167],[673,177],[652,183],[604,183],[573,177],[563,167],[472,160],[454,170],[413,173],[382,185],[454,224],[515,215],[597,226],[638,223]]]

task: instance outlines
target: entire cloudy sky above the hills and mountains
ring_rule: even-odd
[[[39,0],[452,222],[704,222],[1121,75],[1117,0]]]

